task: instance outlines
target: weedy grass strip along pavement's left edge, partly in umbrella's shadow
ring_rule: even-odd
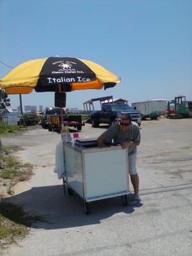
[[[5,195],[13,195],[13,185],[19,181],[29,180],[33,166],[29,163],[19,163],[10,152],[19,148],[3,147],[0,154],[0,246],[17,243],[18,239],[26,237],[29,228],[35,222],[47,222],[45,216],[38,216],[34,212],[24,212],[19,205],[5,202]]]

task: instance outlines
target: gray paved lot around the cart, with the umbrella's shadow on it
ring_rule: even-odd
[[[86,124],[79,137],[97,138],[106,128]],[[35,129],[2,138],[4,145],[24,148],[15,155],[34,164],[35,173],[29,182],[17,184],[7,200],[49,220],[36,223],[20,246],[4,255],[191,255],[192,118],[146,120],[140,131],[142,204],[124,207],[120,198],[100,200],[92,203],[88,216],[81,198],[63,195],[62,181],[53,172],[60,134]]]

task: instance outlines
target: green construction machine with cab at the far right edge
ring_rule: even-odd
[[[170,118],[184,118],[192,116],[192,101],[187,101],[186,96],[180,95],[167,102],[167,114]]]

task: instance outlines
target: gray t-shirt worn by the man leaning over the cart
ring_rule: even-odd
[[[127,131],[122,131],[120,125],[115,123],[102,134],[104,143],[109,143],[112,140],[116,144],[122,144],[125,141],[140,141],[140,127],[136,122],[131,122]],[[129,147],[129,155],[136,153],[136,146]]]

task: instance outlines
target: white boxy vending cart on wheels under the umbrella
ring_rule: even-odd
[[[120,196],[127,205],[129,166],[127,148],[110,143],[97,146],[97,140],[76,140],[63,143],[65,177],[63,186],[69,195],[83,198],[88,214],[90,202]]]

